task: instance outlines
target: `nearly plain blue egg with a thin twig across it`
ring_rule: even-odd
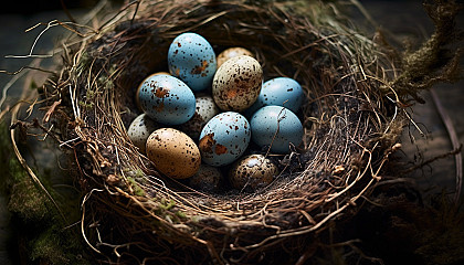
[[[303,125],[298,117],[282,106],[264,106],[250,120],[252,140],[260,147],[271,146],[271,152],[287,153],[291,144],[303,141]]]

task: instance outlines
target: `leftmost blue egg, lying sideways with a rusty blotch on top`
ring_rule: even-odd
[[[160,124],[180,125],[193,117],[193,92],[175,76],[150,76],[141,84],[138,96],[141,109]]]

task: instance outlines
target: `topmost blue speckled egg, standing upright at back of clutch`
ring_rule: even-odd
[[[211,86],[217,65],[211,44],[197,33],[182,33],[169,46],[169,72],[194,92]]]

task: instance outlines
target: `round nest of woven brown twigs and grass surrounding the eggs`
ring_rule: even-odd
[[[388,50],[335,4],[143,1],[108,21],[76,30],[43,93],[85,193],[83,236],[102,261],[296,263],[382,181],[405,123],[390,86],[398,73]],[[166,71],[169,44],[182,32],[201,34],[217,53],[246,47],[266,80],[302,84],[304,147],[272,157],[282,170],[272,184],[196,191],[160,174],[128,139],[137,86]]]

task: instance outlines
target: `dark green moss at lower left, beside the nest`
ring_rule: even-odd
[[[84,258],[85,248],[78,227],[70,226],[80,216],[80,195],[57,192],[50,184],[50,176],[38,177],[68,223],[22,168],[14,156],[7,123],[0,123],[0,183],[11,212],[9,255],[13,261],[27,264],[91,264]],[[65,229],[67,226],[70,229]]]

